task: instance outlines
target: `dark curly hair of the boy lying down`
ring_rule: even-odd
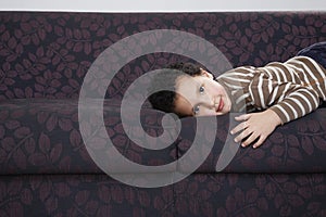
[[[156,75],[149,88],[150,92],[159,89],[170,89],[162,90],[152,93],[149,97],[149,102],[155,110],[161,110],[166,113],[174,113],[175,108],[175,98],[176,98],[176,80],[184,73],[190,76],[197,76],[201,74],[201,66],[192,63],[175,63],[168,65],[166,68],[162,69],[159,75]]]

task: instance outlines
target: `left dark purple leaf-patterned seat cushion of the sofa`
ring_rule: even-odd
[[[80,107],[87,106],[80,105]],[[116,149],[127,158],[145,165],[164,165],[176,159],[176,146],[145,151],[124,131],[120,104],[104,103],[104,124]],[[77,100],[11,100],[0,103],[0,174],[98,174],[83,141],[78,125]],[[145,108],[141,123],[152,136],[162,132],[163,113]],[[161,116],[161,117],[160,117]],[[90,133],[98,129],[89,120]],[[133,128],[134,126],[126,125]],[[136,130],[136,128],[133,128]],[[91,137],[90,137],[91,139]],[[97,145],[105,141],[97,140]],[[127,168],[125,168],[127,169]]]

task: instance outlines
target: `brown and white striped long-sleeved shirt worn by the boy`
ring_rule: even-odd
[[[265,67],[242,66],[217,77],[234,112],[271,108],[283,124],[302,117],[326,101],[326,69],[306,56]]]

